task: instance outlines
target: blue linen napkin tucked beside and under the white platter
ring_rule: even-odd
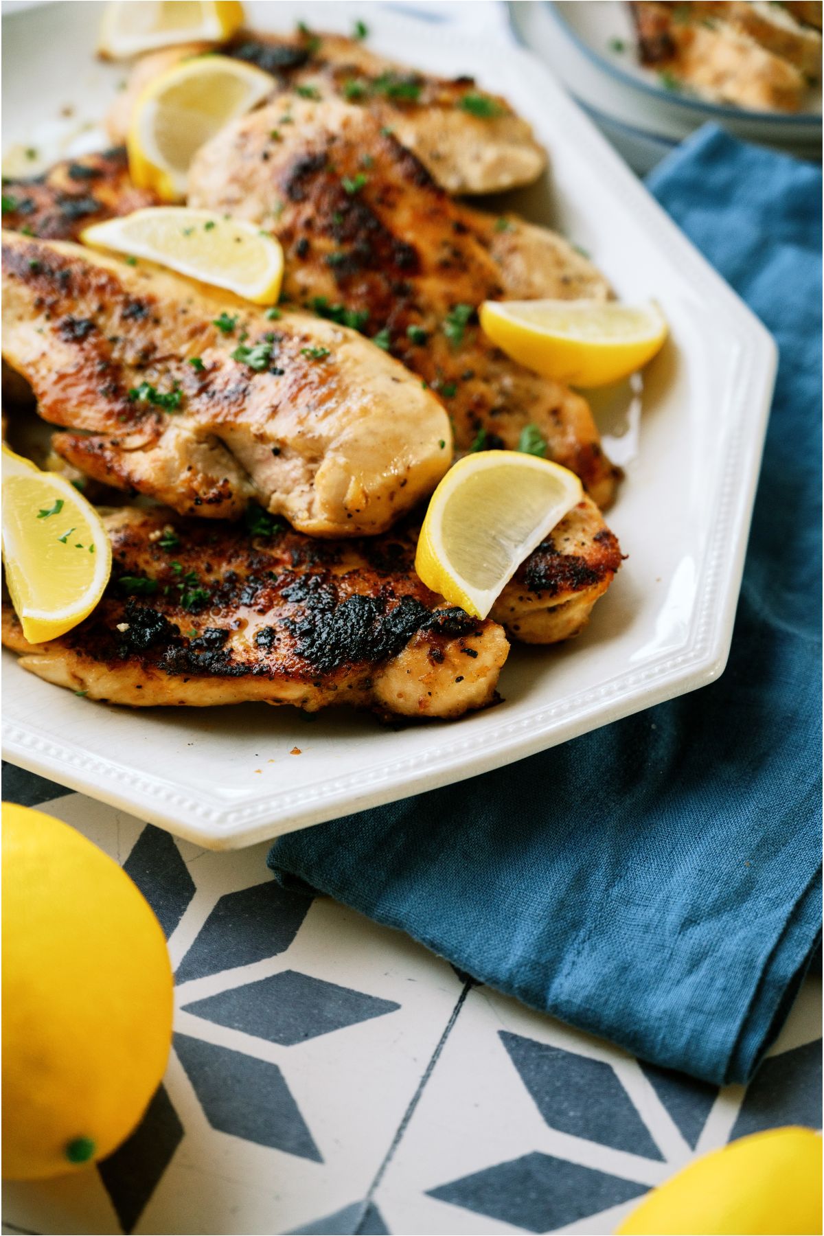
[[[820,925],[822,173],[707,127],[649,187],[781,351],[725,674],[283,837],[268,863],[528,1005],[724,1084],[773,1041]]]

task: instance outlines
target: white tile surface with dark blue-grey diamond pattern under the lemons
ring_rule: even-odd
[[[9,1232],[613,1231],[694,1154],[820,1127],[820,980],[759,1075],[641,1064],[325,899],[266,845],[201,850],[4,768],[116,858],[175,967],[175,1036],[140,1128],[99,1168],[4,1189]]]

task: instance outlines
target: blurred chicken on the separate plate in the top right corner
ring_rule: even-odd
[[[641,63],[667,73],[676,88],[681,83],[704,98],[760,111],[798,111],[813,77],[804,66],[814,62],[820,77],[820,36],[783,9],[780,21],[766,15],[766,6],[739,2],[640,0],[630,9]]]

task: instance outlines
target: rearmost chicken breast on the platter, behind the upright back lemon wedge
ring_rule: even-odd
[[[191,43],[142,57],[109,115],[112,141],[125,141],[135,101],[152,78],[208,49]],[[357,101],[379,125],[392,127],[450,193],[530,184],[546,166],[528,122],[505,99],[481,93],[472,78],[427,77],[338,35],[243,32],[221,51],[271,73],[273,93],[293,89]]]

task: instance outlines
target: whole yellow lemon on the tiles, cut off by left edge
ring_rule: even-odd
[[[115,1149],[172,1041],[161,926],[68,824],[2,808],[2,1174],[70,1172]]]

